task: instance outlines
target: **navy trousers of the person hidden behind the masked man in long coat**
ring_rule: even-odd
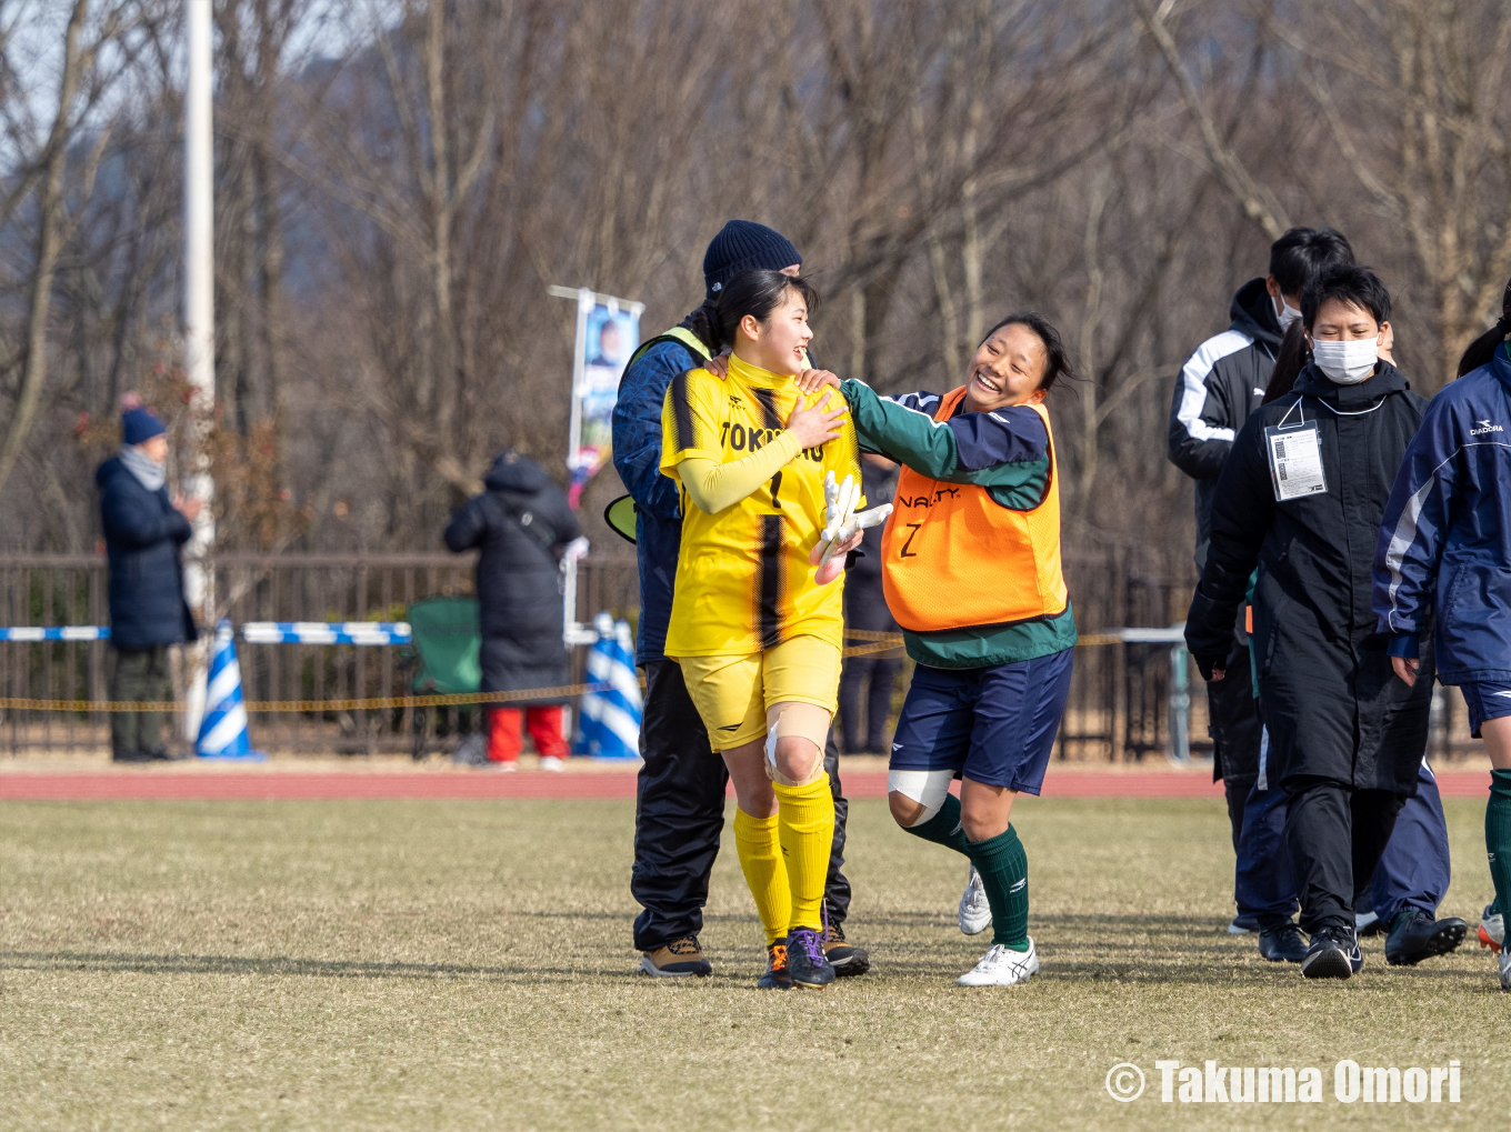
[[[1373,874],[1355,877],[1354,910],[1372,910],[1387,925],[1407,908],[1435,916],[1451,880],[1443,800],[1423,763],[1417,792],[1401,806]],[[1244,807],[1233,887],[1241,917],[1268,926],[1296,914],[1296,883],[1286,849],[1286,792],[1263,775]]]

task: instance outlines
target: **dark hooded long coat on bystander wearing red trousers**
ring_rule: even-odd
[[[533,459],[505,452],[484,494],[446,527],[446,546],[477,547],[482,691],[514,692],[568,683],[562,641],[562,547],[582,534],[567,496]]]

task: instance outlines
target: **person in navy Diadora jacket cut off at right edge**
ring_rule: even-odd
[[[1458,379],[1407,447],[1375,547],[1373,611],[1396,676],[1414,686],[1431,636],[1437,679],[1458,685],[1490,754],[1485,852],[1496,901],[1479,925],[1511,990],[1511,283],[1500,320],[1470,343]],[[1435,624],[1434,624],[1435,621]]]

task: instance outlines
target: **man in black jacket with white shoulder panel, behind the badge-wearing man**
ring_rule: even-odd
[[[1197,481],[1198,568],[1206,561],[1218,475],[1233,438],[1265,397],[1284,332],[1283,320],[1289,325],[1299,317],[1301,292],[1318,272],[1352,261],[1352,248],[1333,228],[1292,228],[1284,233],[1269,248],[1269,275],[1239,287],[1228,308],[1228,328],[1203,342],[1182,367],[1170,407],[1170,459]],[[1259,843],[1247,846],[1248,852],[1242,845],[1244,807],[1259,778],[1262,727],[1242,617],[1231,636],[1227,673],[1233,679],[1207,685],[1207,730],[1213,744],[1212,774],[1222,780],[1233,851],[1239,857],[1239,914],[1230,931],[1244,933],[1259,931],[1256,907],[1293,902],[1293,898],[1284,883],[1278,886],[1283,893],[1268,892],[1272,886],[1265,874],[1271,872],[1268,860],[1278,845],[1278,831],[1265,836],[1256,830]]]

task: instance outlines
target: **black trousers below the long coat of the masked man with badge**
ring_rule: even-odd
[[[1372,877],[1405,801],[1324,778],[1290,783],[1286,849],[1296,878],[1301,929],[1354,929],[1354,878]]]

